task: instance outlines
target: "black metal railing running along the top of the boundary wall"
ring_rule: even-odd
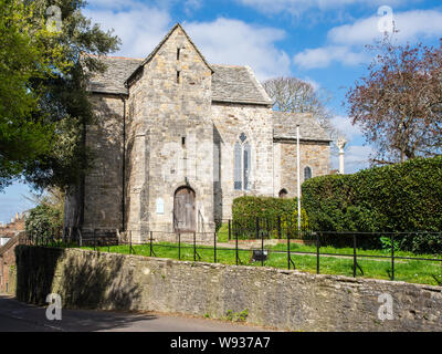
[[[229,221],[229,220],[227,220]],[[225,223],[225,222],[224,222]],[[439,272],[432,277],[439,285],[442,285],[442,257],[441,253],[434,256],[420,256],[398,252],[398,246],[404,239],[413,236],[431,236],[442,242],[442,232],[336,232],[336,231],[307,231],[290,230],[288,228],[281,235],[269,233],[262,223],[256,221],[254,238],[241,239],[240,229],[229,227],[229,239],[225,242],[219,241],[218,232],[156,232],[148,231],[143,235],[138,231],[137,239],[134,238],[131,230],[119,232],[117,230],[103,229],[54,229],[45,235],[27,235],[20,242],[29,246],[55,247],[55,248],[91,248],[95,251],[113,251],[114,246],[127,246],[129,254],[139,254],[138,250],[144,249],[141,256],[161,257],[161,249],[177,250],[178,260],[186,259],[183,252],[191,250],[190,258],[193,261],[219,262],[220,254],[225,252],[233,253],[234,264],[261,264],[269,266],[272,256],[286,257],[286,268],[297,269],[295,257],[304,256],[316,261],[316,273],[322,273],[324,260],[341,259],[352,261],[352,277],[358,273],[365,275],[364,260],[389,260],[389,278],[397,278],[398,262],[424,261],[440,263]],[[228,226],[227,226],[228,227]],[[383,248],[379,247],[383,240]],[[386,240],[389,240],[386,246]],[[272,244],[270,244],[273,242]],[[295,247],[296,246],[296,247]],[[306,246],[299,250],[299,246]],[[144,247],[144,248],[143,248]],[[333,250],[333,251],[330,251]],[[120,250],[117,250],[117,252]],[[203,253],[204,256],[201,256]],[[207,254],[212,256],[208,257]],[[249,253],[244,259],[243,254]],[[189,256],[188,256],[189,258]],[[383,264],[382,264],[383,266]],[[272,267],[272,266],[269,266]],[[327,273],[327,271],[325,271]]]

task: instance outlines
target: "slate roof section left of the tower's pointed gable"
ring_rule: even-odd
[[[90,82],[90,90],[96,93],[128,94],[124,82],[143,63],[143,59],[104,56],[105,73],[96,74]]]

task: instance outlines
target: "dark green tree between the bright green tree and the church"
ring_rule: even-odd
[[[84,143],[85,126],[94,123],[87,82],[90,75],[105,66],[88,54],[101,56],[113,52],[117,50],[119,39],[109,31],[103,32],[98,24],[92,24],[82,14],[81,9],[86,4],[83,0],[35,0],[34,4],[36,19],[45,17],[51,6],[60,8],[62,31],[57,33],[56,43],[71,65],[66,73],[34,82],[34,86],[45,87],[40,107],[56,123],[57,138],[51,152],[31,164],[24,176],[40,188],[57,186],[66,189],[80,183],[92,163]],[[54,43],[50,40],[48,45]]]

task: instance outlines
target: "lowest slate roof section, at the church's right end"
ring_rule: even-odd
[[[277,140],[296,139],[296,126],[299,125],[302,140],[332,142],[328,134],[311,113],[273,112],[274,138]]]

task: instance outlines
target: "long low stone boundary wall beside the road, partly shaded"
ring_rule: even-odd
[[[441,331],[442,288],[272,268],[179,262],[78,249],[18,246],[17,298],[65,308],[173,312],[288,331]],[[379,295],[392,296],[381,321]]]

